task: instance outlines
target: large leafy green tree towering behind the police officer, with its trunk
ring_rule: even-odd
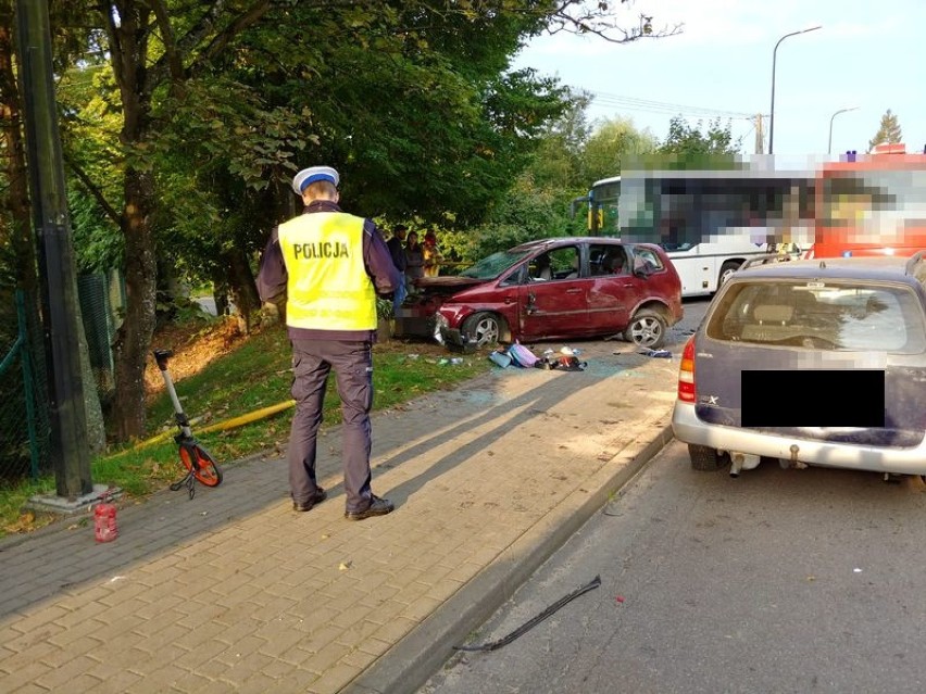
[[[342,171],[342,199],[358,213],[477,223],[564,108],[554,80],[508,73],[524,40],[677,30],[654,30],[647,17],[615,30],[606,3],[583,0],[60,4],[79,17],[62,34],[84,51],[68,49],[62,63],[108,62],[92,83],[97,117],[117,123],[96,152],[70,142],[93,198],[82,210],[96,206],[98,230],[115,224],[121,236],[96,247],[120,248],[128,294],[114,346],[120,439],[143,432],[159,256],[162,273],[220,276],[224,265],[252,287],[249,254],[295,212],[288,180],[309,162]]]

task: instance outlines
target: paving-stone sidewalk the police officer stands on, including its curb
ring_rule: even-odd
[[[579,346],[585,371],[496,369],[377,414],[389,516],[345,520],[331,429],[310,513],[254,457],[121,508],[115,542],[73,519],[0,542],[0,691],[414,691],[668,440],[677,356]]]

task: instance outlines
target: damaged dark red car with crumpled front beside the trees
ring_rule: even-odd
[[[416,280],[395,335],[434,337],[448,346],[620,335],[655,349],[681,315],[681,282],[660,247],[541,239],[455,276]]]

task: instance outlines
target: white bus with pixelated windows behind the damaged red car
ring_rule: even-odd
[[[589,232],[662,245],[681,295],[712,294],[747,258],[800,252],[813,229],[813,178],[767,171],[641,171],[596,181]]]

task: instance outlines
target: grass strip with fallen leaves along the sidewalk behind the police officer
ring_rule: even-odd
[[[217,431],[200,431],[220,426],[291,400],[290,346],[283,326],[250,336],[233,336],[228,320],[203,328],[201,323],[176,327],[170,335],[155,336],[153,346],[175,352],[168,364],[177,396],[192,421],[193,434],[220,465],[268,450],[283,450],[289,439],[292,408],[250,424]],[[186,331],[185,331],[186,330]],[[229,337],[232,336],[232,337]],[[401,405],[420,395],[454,388],[491,368],[488,352],[463,357],[458,365],[442,364],[450,355],[437,344],[400,341],[384,342],[373,349],[374,411]],[[143,497],[183,477],[173,434],[177,428],[174,408],[153,366],[146,375],[149,383],[147,438],[111,447],[91,463],[97,484],[118,487],[130,497]],[[176,368],[175,368],[176,366]],[[324,403],[323,427],[340,422],[340,401],[331,374]],[[165,437],[151,442],[159,436]],[[374,431],[375,436],[375,431]],[[46,514],[23,513],[30,496],[53,492],[53,478],[0,487],[0,537],[34,530],[54,519]]]

